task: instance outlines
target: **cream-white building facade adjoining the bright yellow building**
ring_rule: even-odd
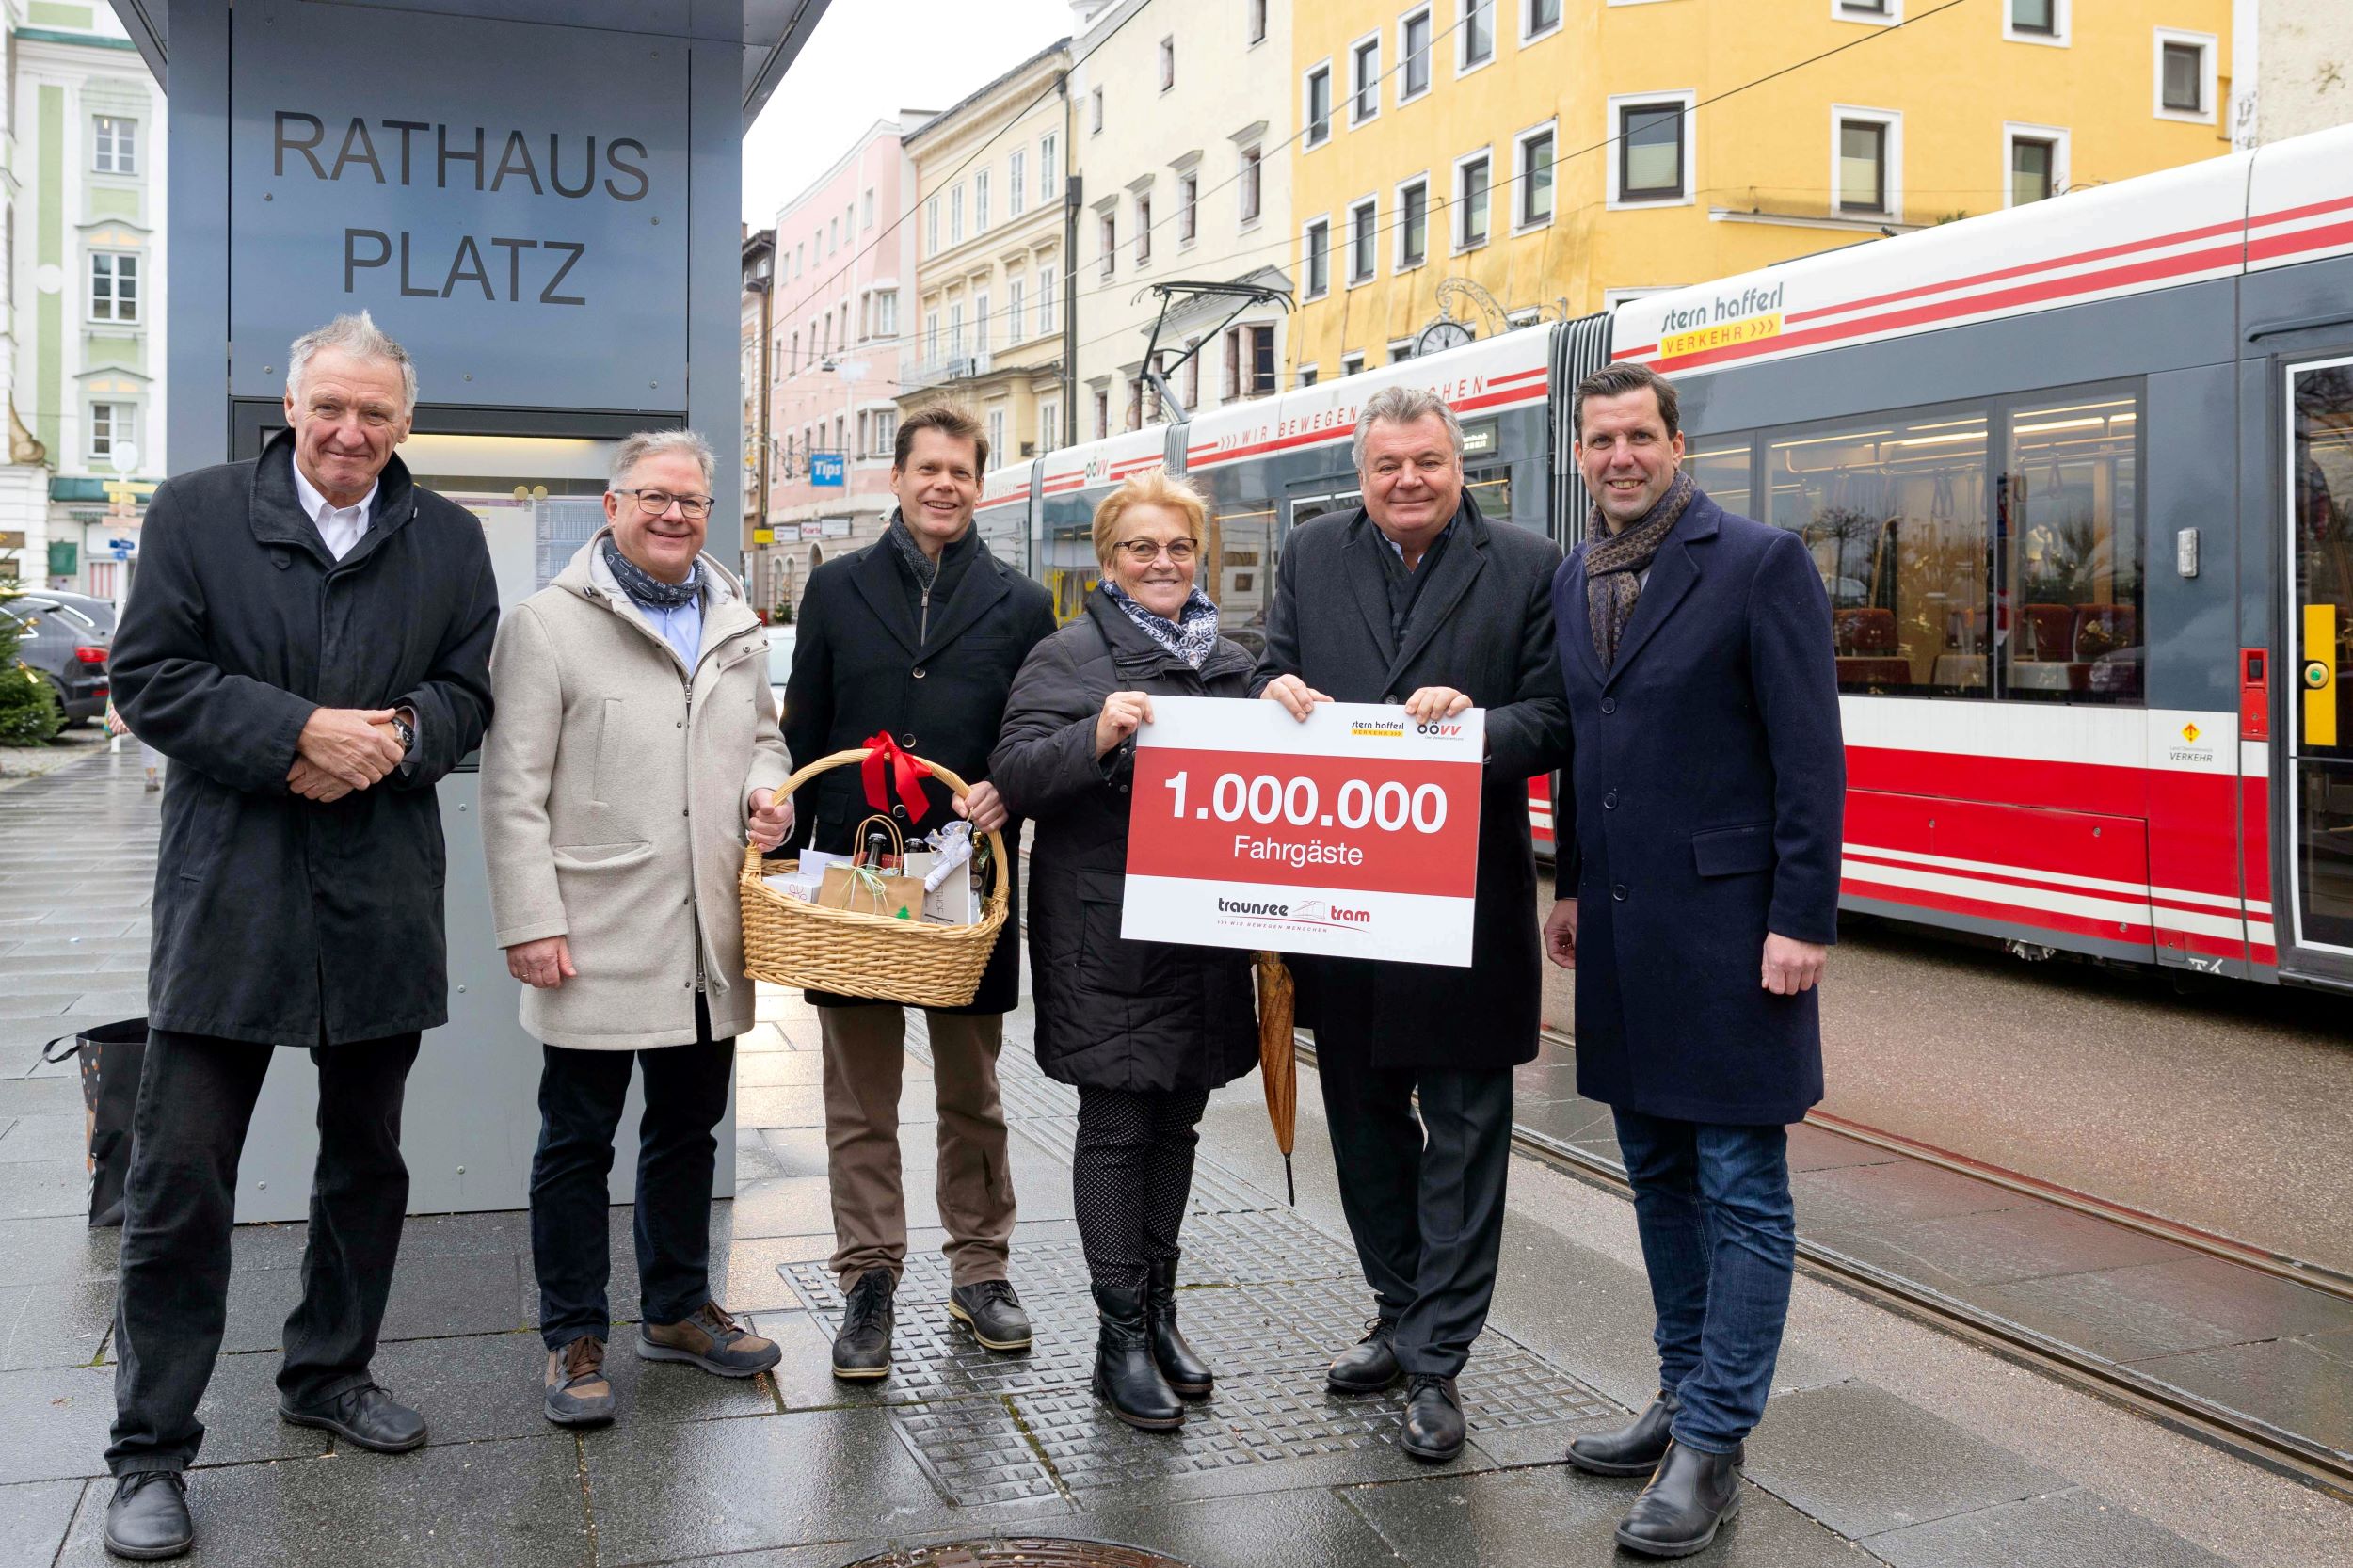
[[[1113,0],[1071,40],[1078,224],[1078,436],[1160,419],[1144,356],[1155,283],[1292,294],[1292,7]],[[1282,304],[1169,304],[1158,358],[1188,412],[1264,398],[1285,363]],[[1231,318],[1231,320],[1228,320]],[[1195,348],[1191,360],[1186,348]]]

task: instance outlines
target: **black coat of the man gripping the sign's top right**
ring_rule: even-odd
[[[1537,1055],[1544,954],[1537,937],[1537,859],[1527,782],[1560,765],[1569,716],[1553,657],[1553,567],[1544,534],[1492,527],[1464,494],[1461,513],[1421,586],[1400,647],[1391,636],[1388,539],[1358,509],[1292,532],[1275,570],[1266,652],[1252,692],[1299,676],[1337,702],[1405,702],[1452,685],[1487,709],[1480,789],[1478,911],[1471,968],[1289,961],[1299,1022],[1332,1041],[1369,1041],[1372,1067],[1501,1069]],[[1332,1041],[1322,1031],[1332,1034]]]

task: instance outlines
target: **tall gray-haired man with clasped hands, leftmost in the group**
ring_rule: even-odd
[[[489,723],[482,523],[393,457],[409,356],[365,313],[294,341],[287,431],[167,480],[113,645],[115,706],[172,760],[115,1304],[106,1549],[193,1544],[184,1471],[228,1311],[238,1154],[278,1048],[318,1064],[318,1177],[278,1410],[405,1453],[369,1377],[409,1175],[400,1099],[449,1017],[433,786]]]

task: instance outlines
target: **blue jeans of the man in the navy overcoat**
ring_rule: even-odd
[[[1675,1441],[1732,1453],[1765,1415],[1788,1321],[1788,1128],[1617,1111],[1617,1132],[1659,1314],[1659,1387],[1680,1401]]]

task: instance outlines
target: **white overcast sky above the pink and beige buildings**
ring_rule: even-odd
[[[833,0],[744,137],[744,221],[776,207],[901,108],[948,108],[1071,31],[1066,0]]]

